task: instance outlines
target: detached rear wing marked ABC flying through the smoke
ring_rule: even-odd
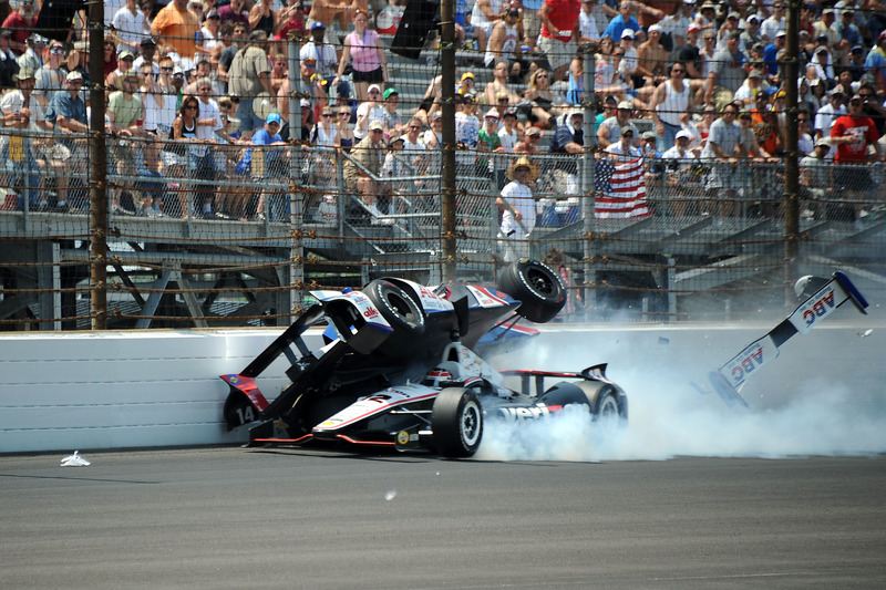
[[[748,407],[739,390],[755,371],[777,358],[779,348],[794,334],[805,334],[846,301],[852,301],[858,311],[867,314],[867,300],[843,272],[834,272],[831,280],[804,277],[801,281],[805,281],[803,284],[822,287],[766,335],[745,346],[717,371],[709,373],[708,380],[714,391],[730,407],[736,404]],[[797,281],[797,286],[801,281]]]

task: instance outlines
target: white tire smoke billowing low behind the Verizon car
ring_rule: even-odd
[[[727,352],[719,355],[729,356]],[[535,364],[527,369],[547,368],[553,358],[563,369],[563,346],[543,346],[530,356]],[[786,387],[773,379],[779,375],[775,361],[766,368],[769,380],[760,379],[752,394],[772,383],[779,389],[772,392],[777,405],[766,407],[766,401],[749,398],[751,410],[730,408],[715,393],[702,395],[689,385],[699,362],[704,366],[705,361],[698,360],[691,369],[680,369],[662,352],[658,359],[636,363],[642,366],[620,372],[610,368],[608,376],[628,393],[630,408],[627,427],[616,436],[598,436],[587,408],[530,423],[487,421],[477,458],[601,462],[886,452],[886,401],[880,392],[855,391],[838,377],[811,377]]]

